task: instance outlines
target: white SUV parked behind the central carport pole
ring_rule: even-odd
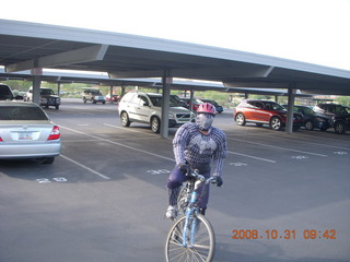
[[[154,133],[161,130],[162,94],[129,92],[119,103],[119,116],[121,124],[129,127],[131,122],[149,123]],[[195,114],[180,107],[177,100],[171,95],[168,127],[184,124],[195,120]]]

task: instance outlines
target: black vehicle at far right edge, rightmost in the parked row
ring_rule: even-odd
[[[330,127],[335,129],[335,133],[342,134],[350,130],[350,114],[347,107],[338,104],[318,104],[314,110],[330,119]]]

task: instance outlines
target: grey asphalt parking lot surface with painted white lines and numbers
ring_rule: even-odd
[[[176,129],[122,128],[116,109],[63,100],[46,110],[61,128],[51,166],[0,162],[0,261],[164,261]],[[237,127],[230,111],[214,126],[229,145],[214,261],[350,261],[350,133]]]

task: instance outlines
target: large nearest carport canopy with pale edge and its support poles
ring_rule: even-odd
[[[0,64],[7,72],[32,70],[38,96],[42,68],[108,72],[113,79],[162,78],[170,94],[173,78],[222,82],[228,87],[350,94],[350,72],[287,59],[151,37],[0,20]],[[168,99],[163,99],[167,122]],[[288,132],[292,132],[289,110]],[[162,136],[167,126],[162,124]]]

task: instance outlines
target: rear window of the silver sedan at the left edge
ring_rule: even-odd
[[[0,120],[47,120],[47,117],[37,107],[5,106],[0,108]]]

